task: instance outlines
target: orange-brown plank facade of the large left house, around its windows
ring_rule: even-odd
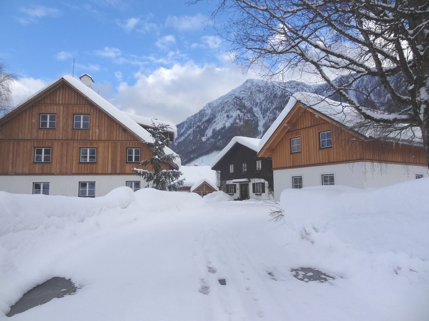
[[[54,129],[39,128],[41,113],[56,114]],[[73,129],[75,114],[89,115],[89,129]],[[50,163],[34,163],[36,147],[51,148]],[[97,149],[95,163],[80,163],[82,147]],[[0,119],[0,175],[136,175],[132,168],[142,167],[127,163],[130,147],[140,148],[140,160],[152,156],[132,131],[63,80]]]

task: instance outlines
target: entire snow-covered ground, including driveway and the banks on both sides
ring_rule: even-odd
[[[0,192],[0,311],[53,276],[82,287],[0,320],[429,320],[428,195],[429,178],[287,190],[273,223],[264,202],[195,193]]]

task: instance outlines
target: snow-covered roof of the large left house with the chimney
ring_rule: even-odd
[[[17,107],[15,107],[14,110],[18,109],[21,105],[23,105],[27,101],[31,100],[32,98],[34,98],[36,95],[39,95],[39,93],[45,91],[46,89],[48,89],[49,87],[51,87],[52,85],[54,85],[55,83],[57,83],[61,79],[65,80],[67,83],[69,83],[70,86],[73,86],[76,90],[81,92],[82,95],[84,95],[86,98],[88,98],[88,100],[92,101],[94,104],[96,104],[102,110],[104,110],[107,114],[109,114],[114,119],[116,119],[119,123],[121,123],[124,127],[128,128],[133,134],[135,134],[137,137],[139,137],[139,139],[144,140],[145,142],[150,142],[150,143],[154,142],[153,138],[150,136],[148,131],[146,131],[144,128],[142,128],[142,126],[140,126],[135,121],[130,119],[130,117],[126,116],[123,112],[121,112],[121,110],[119,110],[118,108],[113,106],[111,103],[109,103],[109,101],[107,101],[106,99],[101,97],[99,94],[97,94],[97,92],[94,92],[93,89],[91,89],[88,86],[86,86],[85,84],[83,84],[80,80],[73,78],[72,76],[69,76],[69,75],[64,75],[63,77],[60,77],[60,78],[54,80],[53,82],[48,84],[48,86],[40,89],[34,95],[31,95],[29,98],[27,98],[23,102],[21,102],[21,104],[19,104]],[[13,112],[13,110],[10,111],[9,113],[12,113],[12,112]],[[6,117],[7,115],[9,115],[9,113],[5,114],[3,117]],[[167,155],[171,155],[171,154],[177,155],[175,152],[173,152],[168,147],[164,148],[164,152]],[[180,167],[180,165],[181,165],[180,158],[179,157],[175,158],[174,163],[178,167]]]

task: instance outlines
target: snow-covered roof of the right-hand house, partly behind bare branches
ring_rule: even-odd
[[[400,143],[408,143],[412,145],[422,144],[420,128],[413,127],[386,134],[386,131],[384,131],[383,128],[380,128],[379,125],[374,122],[364,120],[363,116],[349,104],[334,101],[311,92],[296,92],[290,97],[286,107],[284,107],[277,119],[275,119],[270,128],[268,128],[261,138],[258,152],[260,152],[263,146],[268,142],[272,134],[274,134],[276,129],[281,125],[287,114],[298,101],[305,107],[316,110],[367,138],[378,138],[383,140],[391,139]],[[358,126],[358,124],[365,124],[365,126]],[[397,125],[397,127],[400,128],[400,124]]]

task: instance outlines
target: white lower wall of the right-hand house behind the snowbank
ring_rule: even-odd
[[[274,170],[274,199],[278,200],[283,190],[292,188],[293,176],[302,176],[303,187],[309,187],[322,185],[323,174],[334,174],[335,185],[355,188],[383,187],[415,179],[415,174],[429,176],[424,166],[369,162],[277,169]]]

